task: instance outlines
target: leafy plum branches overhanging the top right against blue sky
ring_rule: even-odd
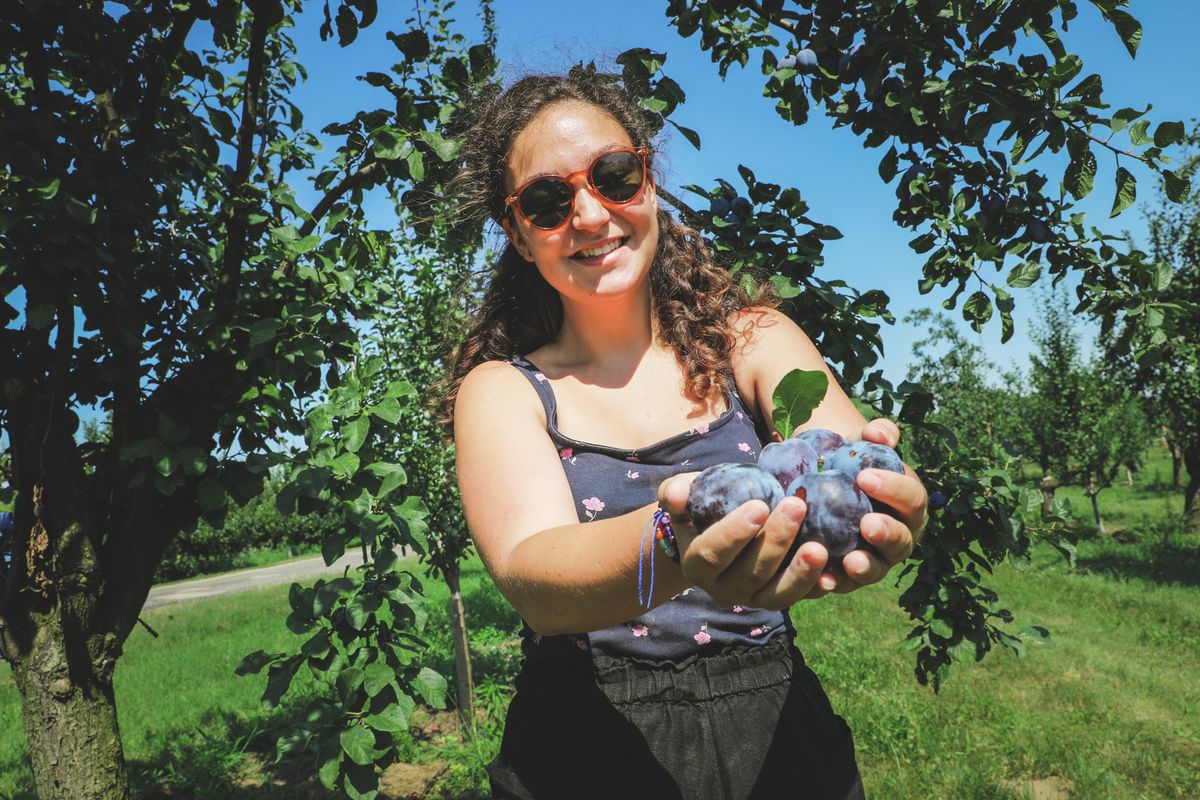
[[[1091,6],[1135,55],[1141,25],[1127,2]],[[894,219],[917,231],[910,245],[929,254],[920,289],[950,289],[944,302],[953,308],[973,288],[962,315],[976,330],[998,312],[1007,341],[1009,289],[1043,272],[1075,273],[1086,285],[1079,309],[1106,326],[1123,319],[1145,331],[1139,351],[1148,353],[1153,330],[1180,332],[1187,317],[1156,302],[1153,315],[1123,315],[1144,302],[1158,270],[1144,253],[1118,251],[1088,229],[1072,204],[1092,191],[1097,152],[1116,167],[1112,216],[1135,198],[1128,160],[1160,174],[1169,197],[1181,199],[1188,178],[1165,169],[1163,149],[1183,138],[1183,126],[1162,122],[1151,133],[1148,107],[1108,113],[1100,76],[1086,73],[1067,49],[1064,34],[1078,14],[1074,0],[670,0],[667,11],[680,35],[700,34],[722,76],[733,64],[761,65],[763,94],[785,120],[803,125],[822,108],[865,148],[886,148],[880,176],[896,182]],[[787,54],[815,66],[784,60]],[[1112,143],[1117,134],[1128,139],[1124,149]],[[1058,188],[1032,164],[1062,151],[1069,166]],[[1006,269],[1003,283],[992,277]],[[854,355],[859,366],[862,354]]]

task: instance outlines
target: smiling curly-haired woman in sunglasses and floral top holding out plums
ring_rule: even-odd
[[[853,745],[792,644],[787,608],[874,583],[912,552],[925,492],[866,470],[863,534],[841,565],[805,543],[804,503],[751,501],[702,534],[697,470],[754,462],[809,338],[713,265],[659,209],[635,107],[592,73],[527,78],[466,137],[467,207],[508,236],[460,348],[448,410],[467,522],[520,612],[526,663],[500,798],[856,798]],[[896,444],[830,380],[811,427]],[[671,516],[640,603],[643,534]],[[650,546],[653,547],[653,545]]]

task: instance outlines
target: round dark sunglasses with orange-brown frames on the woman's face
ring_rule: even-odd
[[[535,178],[504,198],[505,209],[515,207],[521,216],[541,230],[553,230],[571,218],[575,187],[571,181],[587,175],[588,191],[612,205],[635,200],[646,186],[646,157],[649,148],[622,148],[600,154],[586,169],[565,178]]]

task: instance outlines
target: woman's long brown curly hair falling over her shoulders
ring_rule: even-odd
[[[517,134],[548,106],[566,101],[590,103],[625,128],[635,148],[649,148],[653,120],[620,88],[594,70],[575,67],[563,76],[532,76],[485,100],[482,110],[463,137],[462,167],[451,182],[466,218],[485,215],[499,222],[504,205],[504,172]],[[658,179],[655,179],[658,182]],[[768,283],[754,282],[748,291],[713,261],[703,237],[659,210],[659,245],[650,265],[650,295],[658,336],[674,350],[683,366],[685,396],[697,403],[716,390],[728,391],[730,356],[736,338],[731,315],[751,306],[774,307],[779,300]],[[751,294],[752,293],[752,294]],[[443,421],[454,423],[458,386],[475,366],[524,355],[552,341],[563,324],[558,293],[538,270],[529,269],[516,248],[505,242],[493,277],[467,336],[451,359],[442,391]]]

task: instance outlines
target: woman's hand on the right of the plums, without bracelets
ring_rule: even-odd
[[[892,420],[877,417],[863,426],[859,438],[894,449],[900,441],[900,428]],[[905,464],[904,475],[886,469],[864,469],[857,480],[868,497],[893,509],[895,516],[875,511],[865,515],[860,528],[863,539],[878,551],[878,555],[869,551],[847,553],[841,561],[842,569],[826,571],[810,597],[878,583],[893,566],[912,555],[925,529],[929,495],[911,467]]]

